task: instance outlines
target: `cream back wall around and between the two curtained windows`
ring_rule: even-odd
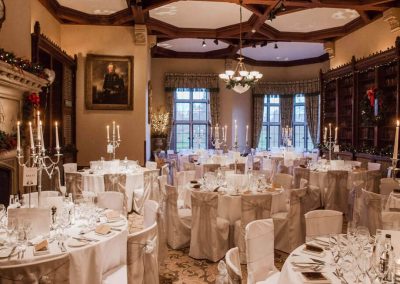
[[[296,81],[318,77],[320,69],[327,70],[329,63],[310,64],[296,67],[255,67],[264,74],[266,81]],[[225,69],[225,61],[218,59],[165,59],[153,58],[151,81],[153,86],[153,109],[165,104],[164,74],[176,73],[221,73]],[[227,140],[232,144],[232,125],[238,123],[239,145],[245,145],[246,125],[251,131],[252,99],[250,91],[237,94],[225,88],[222,81],[220,87],[221,125],[228,126]],[[250,132],[251,133],[251,132]],[[249,135],[251,137],[251,135]]]

